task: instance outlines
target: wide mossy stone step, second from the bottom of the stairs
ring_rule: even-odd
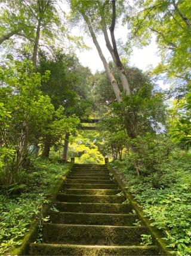
[[[49,224],[42,227],[43,242],[76,245],[140,245],[146,227]]]

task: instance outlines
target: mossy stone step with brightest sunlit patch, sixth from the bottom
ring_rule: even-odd
[[[65,194],[75,195],[116,195],[121,192],[119,189],[63,189]]]

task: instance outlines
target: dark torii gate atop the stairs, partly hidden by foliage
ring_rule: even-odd
[[[99,122],[99,119],[82,119],[81,120],[81,124],[96,124],[97,122]],[[82,126],[79,125],[79,127],[77,127],[77,129],[82,129],[82,130],[96,130],[97,127],[96,126]],[[63,147],[63,155],[62,155],[62,161],[66,162],[67,161],[67,149],[68,149],[68,144],[69,144],[69,137],[70,134],[69,132],[66,133],[65,135],[65,140],[64,140],[64,147]]]

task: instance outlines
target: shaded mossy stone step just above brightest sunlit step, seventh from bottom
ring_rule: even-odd
[[[63,188],[118,189],[118,184],[64,183]]]

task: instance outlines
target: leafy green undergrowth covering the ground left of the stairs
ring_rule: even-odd
[[[19,171],[17,183],[1,189],[0,254],[20,245],[35,218],[43,221],[42,205],[48,203],[48,196],[66,172],[66,166],[38,159],[30,170]]]

